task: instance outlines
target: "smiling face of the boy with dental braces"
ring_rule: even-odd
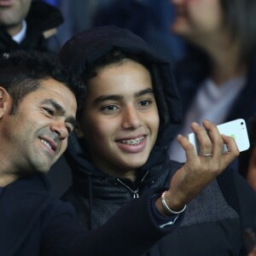
[[[159,122],[150,74],[142,65],[111,64],[90,79],[79,125],[103,172],[134,178],[148,160]]]

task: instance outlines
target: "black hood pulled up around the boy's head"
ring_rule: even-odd
[[[97,27],[75,35],[63,45],[60,60],[68,73],[79,77],[86,71],[88,63],[106,55],[111,49],[121,49],[125,53],[138,55],[147,62],[152,74],[160,114],[160,129],[154,148],[143,166],[146,171],[161,162],[181,124],[182,107],[177,86],[170,64],[154,53],[142,38],[117,26]],[[67,154],[79,169],[86,169],[83,172],[95,172],[74,136],[70,137]]]

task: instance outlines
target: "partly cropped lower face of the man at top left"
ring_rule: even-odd
[[[19,32],[32,0],[0,0],[0,26],[6,27],[11,36]]]

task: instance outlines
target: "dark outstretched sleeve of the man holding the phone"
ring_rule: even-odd
[[[160,228],[152,209],[154,191],[121,207],[108,222],[96,230],[84,230],[75,221],[73,208],[67,203],[53,214],[44,228],[43,256],[94,255],[136,256],[147,251],[161,237],[174,230],[182,218]]]

